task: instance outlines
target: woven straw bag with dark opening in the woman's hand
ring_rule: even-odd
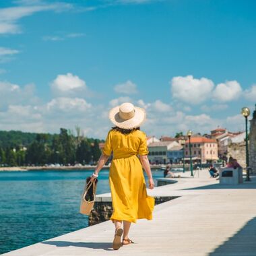
[[[84,186],[84,192],[82,193],[81,203],[80,203],[80,213],[89,215],[92,212],[92,207],[94,207],[95,194],[96,194],[96,180],[86,182]],[[92,187],[92,194],[89,195],[88,191]]]

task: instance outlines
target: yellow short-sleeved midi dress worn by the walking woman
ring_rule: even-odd
[[[146,134],[135,130],[129,134],[112,129],[102,153],[113,160],[109,171],[113,214],[110,220],[152,220],[154,197],[147,195],[141,162],[137,155],[148,155]]]

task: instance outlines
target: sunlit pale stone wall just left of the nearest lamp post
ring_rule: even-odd
[[[241,143],[228,143],[228,159],[230,156],[236,158],[237,162],[246,168],[246,152],[245,152],[245,141]]]

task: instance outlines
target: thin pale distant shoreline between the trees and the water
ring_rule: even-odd
[[[0,172],[29,171],[29,170],[94,170],[96,166],[14,166],[0,167]],[[102,169],[108,169],[110,166],[104,166]],[[152,169],[159,169],[161,165],[152,165]]]

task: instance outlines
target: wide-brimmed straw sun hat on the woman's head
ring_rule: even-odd
[[[126,102],[112,108],[109,111],[108,117],[119,128],[133,129],[139,127],[145,121],[146,111],[143,108]]]

